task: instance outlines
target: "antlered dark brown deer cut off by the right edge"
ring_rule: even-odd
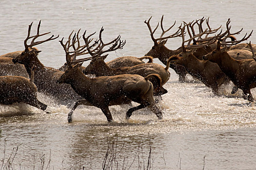
[[[256,87],[255,59],[236,60],[227,51],[231,49],[232,45],[247,40],[252,32],[248,36],[246,36],[246,33],[241,40],[236,42],[217,41],[217,49],[203,56],[203,60],[217,63],[219,68],[231,79],[234,85],[243,91],[243,99],[250,102],[254,101],[250,89]],[[221,48],[221,45],[225,45],[226,47]]]

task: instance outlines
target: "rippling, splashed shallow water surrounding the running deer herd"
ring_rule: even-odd
[[[1,54],[23,50],[28,25],[34,21],[32,32],[35,32],[39,20],[40,32],[59,34],[58,40],[79,28],[82,32],[87,30],[87,34],[98,34],[103,26],[106,42],[120,34],[126,45],[123,50],[111,53],[107,61],[117,56],[140,57],[151,49],[153,42],[143,23],[151,16],[152,28],[162,15],[165,28],[175,20],[179,24],[203,16],[210,17],[212,28],[219,25],[225,28],[231,18],[232,31],[244,28],[238,38],[256,25],[253,0],[1,0],[0,6]],[[156,37],[159,34],[160,31]],[[256,42],[254,33],[250,40]],[[180,44],[181,39],[174,38],[166,46],[174,50]],[[39,60],[45,66],[59,68],[65,62],[65,53],[57,40],[38,48],[42,51]],[[178,83],[175,72],[169,71],[171,78],[164,85],[168,93],[159,104],[163,109],[160,121],[147,109],[139,110],[126,121],[129,106],[112,106],[114,123],[109,124],[98,108],[79,106],[74,112],[74,123],[69,124],[70,108],[42,94],[39,100],[48,105],[51,114],[25,104],[0,105],[0,160],[4,152],[9,157],[12,149],[19,146],[13,162],[15,169],[39,169],[41,160],[45,161],[46,169],[49,159],[50,169],[82,169],[82,166],[102,169],[107,148],[115,142],[120,152],[119,168],[129,167],[133,160],[131,169],[139,169],[138,162],[142,160],[147,165],[151,147],[153,169],[254,170],[255,104],[241,99],[240,90],[232,98],[216,97],[201,83]],[[229,95],[231,89],[232,85],[227,85],[220,91]],[[252,93],[256,97],[255,89]]]

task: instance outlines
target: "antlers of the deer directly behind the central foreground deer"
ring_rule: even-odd
[[[121,38],[121,35],[118,35],[117,38],[115,38],[114,40],[108,42],[108,43],[104,43],[102,41],[102,32],[104,31],[103,27],[101,27],[100,31],[99,31],[99,40],[100,43],[98,44],[98,46],[96,47],[96,49],[94,49],[93,52],[90,48],[89,48],[89,37],[91,37],[93,34],[90,34],[89,36],[85,37],[85,34],[83,34],[83,39],[85,41],[85,43],[87,44],[87,51],[90,53],[90,55],[92,56],[92,59],[93,58],[96,58],[96,57],[106,57],[107,55],[104,55],[104,56],[101,56],[103,53],[106,53],[106,52],[109,52],[109,51],[116,51],[118,49],[122,49],[123,46],[125,45],[126,41],[121,41],[120,38]],[[98,43],[95,42],[95,43]],[[103,48],[112,44],[112,46],[108,49],[108,50],[105,50],[103,51]]]

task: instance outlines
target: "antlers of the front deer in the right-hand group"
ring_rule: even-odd
[[[171,30],[171,29],[174,27],[174,25],[176,24],[176,21],[175,21],[174,24],[173,24],[171,27],[169,27],[167,30],[164,30],[164,29],[163,29],[163,15],[162,15],[162,17],[161,17],[161,30],[162,30],[162,34],[160,35],[160,38],[155,38],[153,34],[154,34],[154,33],[156,32],[156,30],[158,29],[159,22],[158,22],[157,27],[154,29],[154,31],[152,31],[151,26],[150,26],[150,23],[149,23],[151,18],[152,18],[152,16],[148,19],[148,21],[145,20],[144,23],[147,24],[148,29],[149,29],[149,32],[150,32],[150,35],[151,35],[151,39],[153,40],[153,42],[154,42],[155,45],[158,44],[158,41],[161,41],[161,40],[164,40],[164,39],[168,39],[168,38],[174,38],[174,37],[177,37],[177,36],[181,36],[179,30],[177,30],[176,33],[174,33],[174,34],[172,34],[172,35],[169,35],[169,36],[163,37],[163,35],[164,35],[165,33],[167,33],[169,30]]]

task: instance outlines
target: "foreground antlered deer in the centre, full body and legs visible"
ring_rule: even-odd
[[[84,37],[85,33],[86,31],[83,34]],[[91,35],[87,36],[86,39],[89,39]],[[74,39],[76,39],[76,37],[74,37]],[[149,81],[150,77],[155,77],[158,80],[158,85],[161,86],[161,78],[157,74],[150,74],[145,77],[140,75],[121,74],[90,78],[85,76],[80,70],[82,63],[74,66],[73,61],[69,60],[69,55],[71,53],[76,55],[77,51],[69,51],[68,47],[63,43],[63,38],[59,42],[66,52],[66,62],[69,67],[57,82],[59,84],[70,84],[72,88],[84,98],[84,100],[77,101],[68,113],[68,122],[72,122],[72,114],[74,110],[79,105],[86,102],[90,102],[93,106],[100,108],[107,121],[112,122],[113,117],[109,110],[109,105],[110,102],[119,100],[120,97],[140,103],[140,105],[132,107],[126,112],[126,119],[129,119],[134,111],[145,107],[149,107],[150,110],[156,114],[158,119],[162,119],[162,113],[156,106],[153,98],[153,85]],[[72,41],[73,44],[75,42],[75,40]],[[88,41],[86,41],[85,44],[89,47]],[[122,48],[123,45],[124,43],[118,39],[117,43],[114,43],[108,51]],[[87,48],[87,50],[88,49],[90,48]],[[94,55],[101,55],[101,50],[96,51]],[[90,57],[84,58],[84,61],[89,59]]]

